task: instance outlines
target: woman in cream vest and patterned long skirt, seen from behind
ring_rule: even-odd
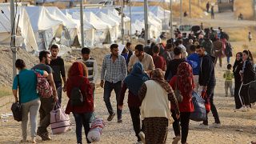
[[[152,78],[142,84],[138,91],[142,102],[141,116],[145,126],[145,141],[148,144],[164,144],[171,118],[170,104],[179,117],[178,102],[174,91],[164,80],[161,69],[155,69]]]

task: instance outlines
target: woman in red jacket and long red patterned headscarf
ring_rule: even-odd
[[[192,92],[194,90],[194,78],[192,73],[192,67],[187,62],[182,62],[178,66],[178,73],[170,80],[170,86],[182,94],[182,102],[178,103],[179,110],[181,112],[180,118],[174,118],[174,134],[175,138],[173,144],[177,144],[182,136],[182,144],[186,143],[186,138],[189,133],[190,113],[194,111],[194,105],[192,103]],[[181,125],[180,123],[181,122]],[[180,126],[182,126],[182,135],[180,133]]]

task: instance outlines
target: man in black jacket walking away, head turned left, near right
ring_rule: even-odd
[[[205,54],[205,49],[203,46],[197,47],[196,51],[198,55],[202,58],[201,68],[199,71],[199,84],[202,86],[202,90],[206,91],[206,103],[210,102],[210,110],[214,116],[214,127],[220,127],[221,122],[218,118],[218,111],[214,105],[214,87],[216,85],[215,73],[214,73],[214,56],[210,54]],[[209,111],[206,110],[208,114]],[[209,129],[208,117],[206,121],[203,121],[200,128]]]

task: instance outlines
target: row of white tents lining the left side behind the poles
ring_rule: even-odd
[[[0,10],[0,45],[10,45],[10,6],[1,6]],[[125,8],[125,34],[144,28],[144,11],[141,6],[133,6],[132,18]],[[170,11],[160,6],[149,7],[150,38],[157,38],[162,28],[169,25]],[[112,7],[86,8],[83,10],[84,42],[86,46],[111,43],[121,37],[121,15]],[[78,46],[81,43],[80,11],[78,8],[59,10],[49,6],[18,6],[18,43],[26,50],[46,50],[53,42],[64,46]]]

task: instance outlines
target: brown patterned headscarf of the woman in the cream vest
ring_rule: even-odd
[[[161,69],[157,68],[152,72],[152,80],[155,82],[158,82],[160,86],[162,86],[163,89],[166,90],[168,94],[173,93],[173,90],[171,89],[168,82],[165,81],[164,75]]]

